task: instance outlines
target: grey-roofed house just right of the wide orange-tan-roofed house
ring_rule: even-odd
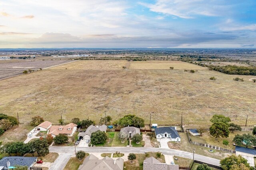
[[[96,131],[102,131],[102,132],[106,132],[107,130],[107,126],[106,125],[101,125],[101,126],[94,126],[94,125],[90,125],[85,132],[80,132],[78,133],[78,138],[82,139],[82,140],[90,140],[91,139],[91,134],[93,132]]]

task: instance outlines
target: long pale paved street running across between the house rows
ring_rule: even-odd
[[[120,153],[145,153],[145,152],[157,152],[160,151],[162,154],[165,155],[175,155],[175,156],[180,156],[183,158],[193,158],[193,153],[191,152],[186,152],[182,150],[174,150],[170,148],[144,148],[144,147],[131,147],[131,148],[126,148],[126,147],[80,147],[77,148],[76,151],[78,150],[84,150],[87,153],[113,153],[113,152],[120,152]],[[75,153],[75,148],[74,146],[50,146],[50,152],[57,152],[57,153],[66,153],[66,154],[74,154]],[[220,166],[220,160],[210,158],[207,156],[202,156],[195,154],[194,155],[195,160],[199,160],[202,162],[206,162],[209,164],[217,165]],[[55,161],[56,162],[56,161]],[[55,163],[54,162],[54,163]]]

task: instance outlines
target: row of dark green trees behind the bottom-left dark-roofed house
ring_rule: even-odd
[[[34,156],[36,152],[38,156],[46,156],[49,154],[49,144],[46,140],[36,139],[29,143],[9,142],[1,147],[2,153],[24,155],[30,153]]]

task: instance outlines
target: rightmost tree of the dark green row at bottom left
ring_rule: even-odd
[[[49,154],[49,144],[46,140],[36,139],[31,142],[31,146],[38,156],[46,156]]]

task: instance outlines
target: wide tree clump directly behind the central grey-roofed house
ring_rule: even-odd
[[[140,127],[144,127],[145,123],[144,123],[144,119],[137,117],[136,115],[126,115],[121,119],[119,119],[118,125],[121,125],[124,127],[127,127],[129,125],[129,126],[140,128]]]

